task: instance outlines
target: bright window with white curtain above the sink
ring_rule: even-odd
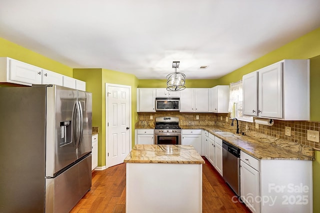
[[[253,122],[253,117],[242,114],[242,80],[230,83],[229,86],[229,112],[231,118]]]

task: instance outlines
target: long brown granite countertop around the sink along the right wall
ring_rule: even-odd
[[[180,125],[183,129],[204,129],[219,137],[242,151],[258,159],[288,159],[288,160],[314,160],[314,149],[285,139],[268,136],[254,131],[247,131],[246,135],[237,134],[237,137],[221,136],[216,131],[235,130],[213,125]],[[137,127],[136,127],[137,128]],[[145,126],[143,127],[145,128]],[[234,133],[236,134],[236,133]]]

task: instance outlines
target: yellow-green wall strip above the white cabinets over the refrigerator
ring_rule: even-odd
[[[72,77],[72,68],[0,37],[0,57],[11,57]]]

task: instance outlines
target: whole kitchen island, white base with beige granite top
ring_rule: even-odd
[[[136,144],[126,163],[126,212],[201,212],[203,158],[191,145]]]

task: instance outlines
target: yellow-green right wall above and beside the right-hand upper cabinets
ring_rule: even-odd
[[[282,59],[310,58],[310,118],[320,121],[320,28],[317,28],[286,45],[217,79],[218,84],[228,84],[241,79],[242,75]],[[298,85],[297,85],[298,86]],[[320,212],[320,152],[313,161],[313,212]]]

